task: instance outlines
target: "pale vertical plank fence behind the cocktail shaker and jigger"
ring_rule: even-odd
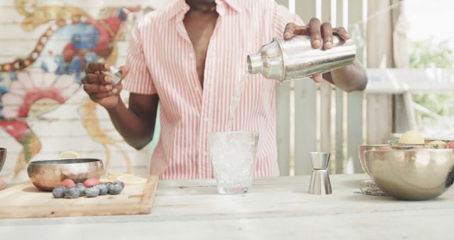
[[[331,1],[336,1],[336,9],[331,9]],[[279,4],[289,6],[289,1],[280,0]],[[316,6],[321,4],[321,21],[336,22],[335,26],[344,26],[348,28],[349,23],[360,23],[359,33],[363,37],[362,28],[363,1],[362,0],[300,0],[294,1],[296,13],[307,23],[310,18],[317,15]],[[344,9],[348,6],[348,9]],[[345,10],[345,11],[344,11]],[[332,14],[335,11],[334,14]],[[348,16],[344,16],[348,12]],[[335,17],[335,19],[331,19]],[[334,26],[333,25],[333,26]],[[358,29],[358,28],[357,28]],[[358,31],[357,31],[358,32]],[[358,58],[362,60],[364,49],[358,49]],[[286,124],[289,122],[287,113],[289,109],[284,107],[289,98],[287,97],[287,85],[277,88],[277,136],[279,150],[279,165],[281,175],[288,174],[289,158],[287,153],[287,132],[289,131]],[[336,173],[362,172],[358,160],[357,147],[363,142],[362,126],[362,102],[363,93],[353,92],[345,94],[341,89],[336,88],[336,114],[333,115],[331,106],[333,95],[333,86],[328,82],[320,84],[320,99],[317,99],[318,86],[312,80],[299,80],[294,82],[294,173],[295,175],[305,175],[311,173],[311,164],[309,163],[308,153],[311,151],[327,151],[333,153],[335,161],[332,161],[331,169],[336,169]],[[348,97],[345,99],[345,97]],[[318,111],[318,101],[320,109]],[[344,102],[347,103],[345,106]],[[345,109],[346,107],[346,109]],[[347,113],[344,121],[345,113]],[[317,120],[317,114],[320,119]],[[292,117],[292,116],[290,116]],[[336,124],[332,128],[331,119],[335,118]],[[284,125],[282,125],[283,123]],[[346,125],[346,130],[345,130]],[[279,132],[284,131],[284,132]],[[320,138],[317,138],[317,131],[320,131]],[[333,131],[335,133],[333,134]],[[346,131],[346,132],[345,132]],[[347,136],[347,141],[344,140]],[[336,145],[332,146],[333,137]],[[319,145],[320,143],[320,145]],[[285,146],[284,146],[285,145]],[[320,146],[319,148],[317,146]],[[346,146],[345,146],[346,145]],[[344,149],[346,148],[346,152]],[[346,153],[346,154],[345,154]],[[292,153],[290,153],[292,156]],[[346,163],[350,163],[349,170],[345,169]]]

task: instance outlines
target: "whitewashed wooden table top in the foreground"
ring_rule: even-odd
[[[217,195],[213,180],[162,181],[151,214],[3,219],[0,239],[454,239],[453,188],[402,202],[360,194],[365,179],[331,175],[328,196],[306,193],[309,176],[256,180],[245,195]]]

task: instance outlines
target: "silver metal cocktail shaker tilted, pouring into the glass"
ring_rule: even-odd
[[[349,65],[355,55],[353,40],[345,41],[338,36],[333,36],[333,48],[329,50],[312,48],[310,36],[274,38],[259,53],[248,55],[248,70],[279,82],[299,80]]]

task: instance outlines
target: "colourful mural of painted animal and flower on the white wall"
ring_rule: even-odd
[[[0,62],[0,129],[21,145],[14,179],[42,148],[43,143],[30,126],[30,119],[55,111],[81,92],[83,70],[88,62],[116,65],[118,42],[125,40],[126,26],[143,10],[140,6],[107,7],[94,18],[83,9],[67,4],[45,6],[36,0],[16,0],[13,4],[23,16],[21,31],[36,31],[47,26],[25,58]],[[108,146],[114,146],[117,155],[124,160],[126,171],[130,172],[133,166],[120,144],[123,140],[103,129],[96,104],[84,96],[77,114],[87,135],[104,149],[106,168],[111,162]]]

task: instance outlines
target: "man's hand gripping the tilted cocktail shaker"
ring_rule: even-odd
[[[295,23],[288,23],[284,30],[284,39],[289,40],[297,35],[311,36],[311,44],[313,48],[330,49],[333,48],[333,34],[341,37],[344,40],[350,39],[347,31],[343,27],[332,28],[331,23],[320,23],[318,18],[311,18],[306,26],[297,26]],[[312,79],[315,82],[321,82],[321,74],[313,75]]]

